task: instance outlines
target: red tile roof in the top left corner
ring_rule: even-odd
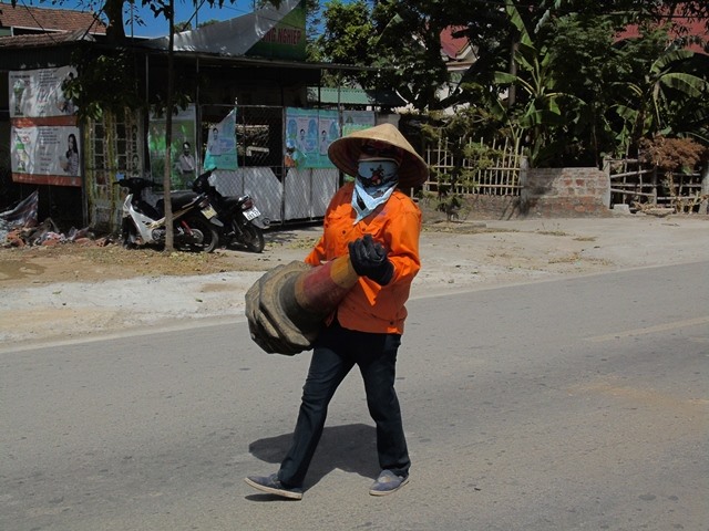
[[[0,3],[0,28],[22,28],[53,31],[89,30],[90,33],[105,34],[106,25],[90,11],[71,9],[12,7]]]

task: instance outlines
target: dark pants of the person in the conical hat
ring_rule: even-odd
[[[411,461],[394,391],[400,334],[371,334],[342,329],[337,321],[315,343],[310,369],[302,387],[302,403],[292,445],[278,479],[300,487],[318,446],[328,405],[345,376],[357,364],[364,381],[367,406],[377,425],[377,451],[382,470],[408,476]]]

